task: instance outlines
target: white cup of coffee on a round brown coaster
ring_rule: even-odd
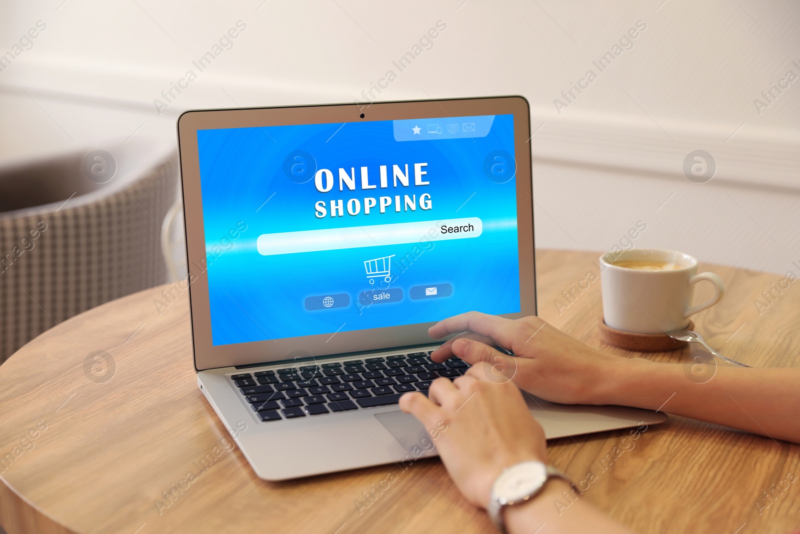
[[[622,261],[672,263],[674,269],[643,271],[619,267]],[[714,306],[725,294],[722,279],[713,272],[699,275],[698,260],[676,251],[633,249],[600,256],[602,312],[606,325],[636,334],[664,334],[689,326],[689,317]],[[714,297],[691,307],[694,284],[708,280]]]

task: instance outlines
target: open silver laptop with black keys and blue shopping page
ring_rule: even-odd
[[[459,98],[178,119],[198,387],[264,480],[436,456],[428,328],[536,314],[529,109]],[[548,438],[654,424],[528,396]]]

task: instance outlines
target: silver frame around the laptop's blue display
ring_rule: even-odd
[[[363,118],[361,115],[364,115]],[[514,157],[517,164],[517,232],[519,251],[520,309],[501,315],[518,319],[536,315],[534,259],[533,184],[530,163],[530,110],[522,96],[453,98],[403,102],[363,102],[319,106],[281,106],[218,110],[188,110],[178,118],[178,150],[181,162],[183,219],[186,231],[186,265],[189,277],[189,302],[197,371],[217,367],[239,367],[256,363],[297,359],[298,351],[312,357],[351,352],[387,350],[435,343],[427,334],[435,323],[398,327],[333,332],[294,338],[234,343],[215,347],[211,339],[205,227],[202,216],[198,130],[253,126],[287,126],[326,122],[366,122],[442,116],[514,115]]]

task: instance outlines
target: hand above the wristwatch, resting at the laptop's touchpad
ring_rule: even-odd
[[[402,411],[436,436],[434,444],[458,489],[482,508],[503,469],[526,460],[547,461],[544,432],[522,393],[514,383],[496,383],[490,375],[491,366],[478,362],[453,382],[434,380],[429,397],[414,392],[400,398]]]

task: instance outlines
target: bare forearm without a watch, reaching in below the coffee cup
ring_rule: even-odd
[[[698,383],[678,363],[625,360],[610,368],[598,404],[618,404],[722,424],[800,443],[800,368],[719,365]]]

